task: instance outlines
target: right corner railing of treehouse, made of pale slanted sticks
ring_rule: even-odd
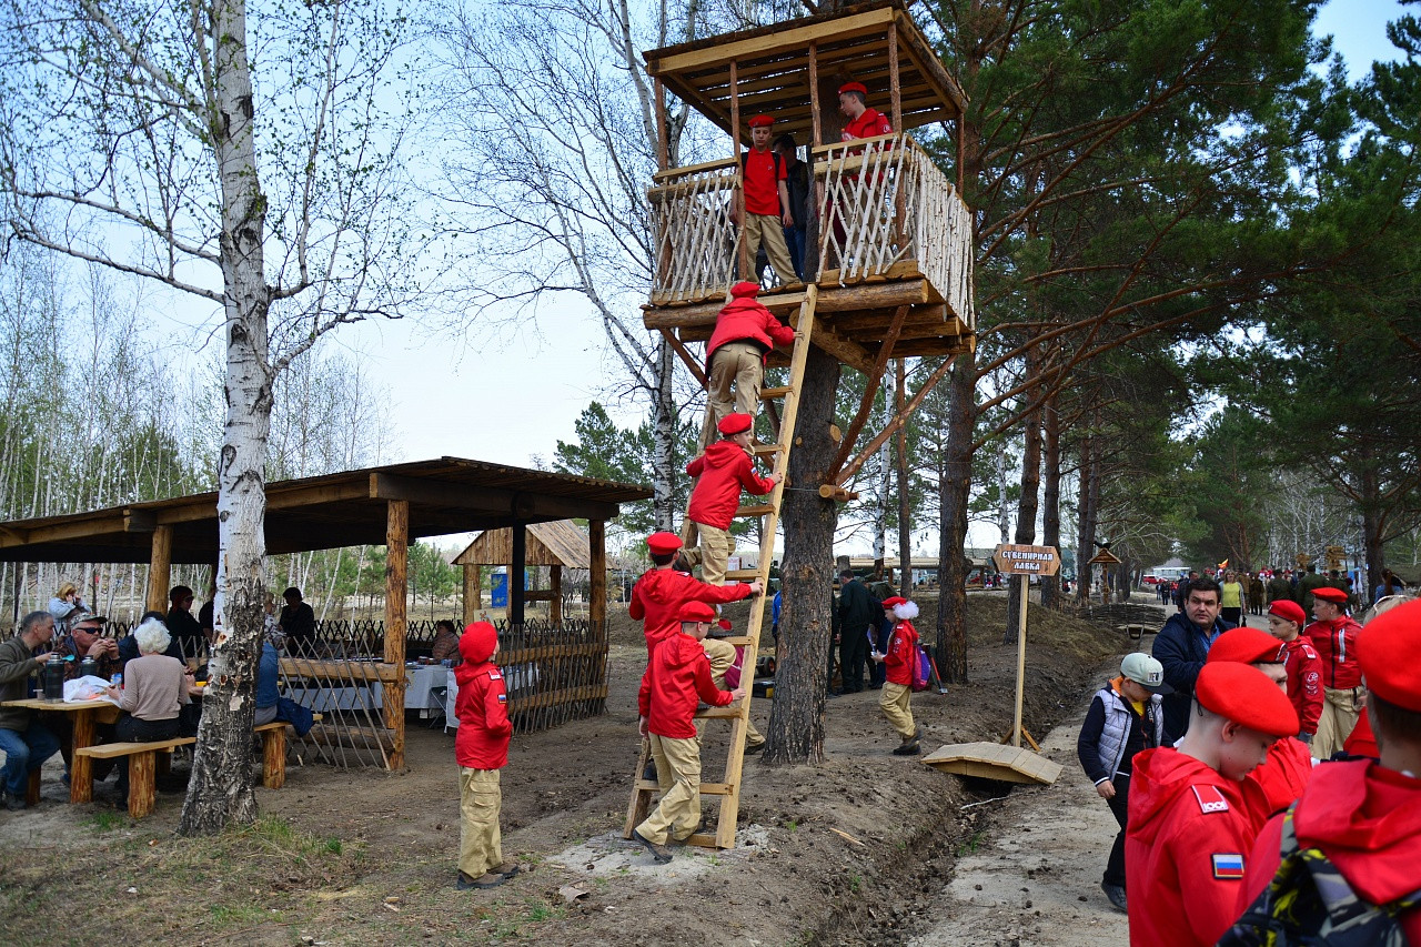
[[[975,324],[972,215],[932,158],[907,135],[814,149],[818,282],[840,286],[915,270]]]

